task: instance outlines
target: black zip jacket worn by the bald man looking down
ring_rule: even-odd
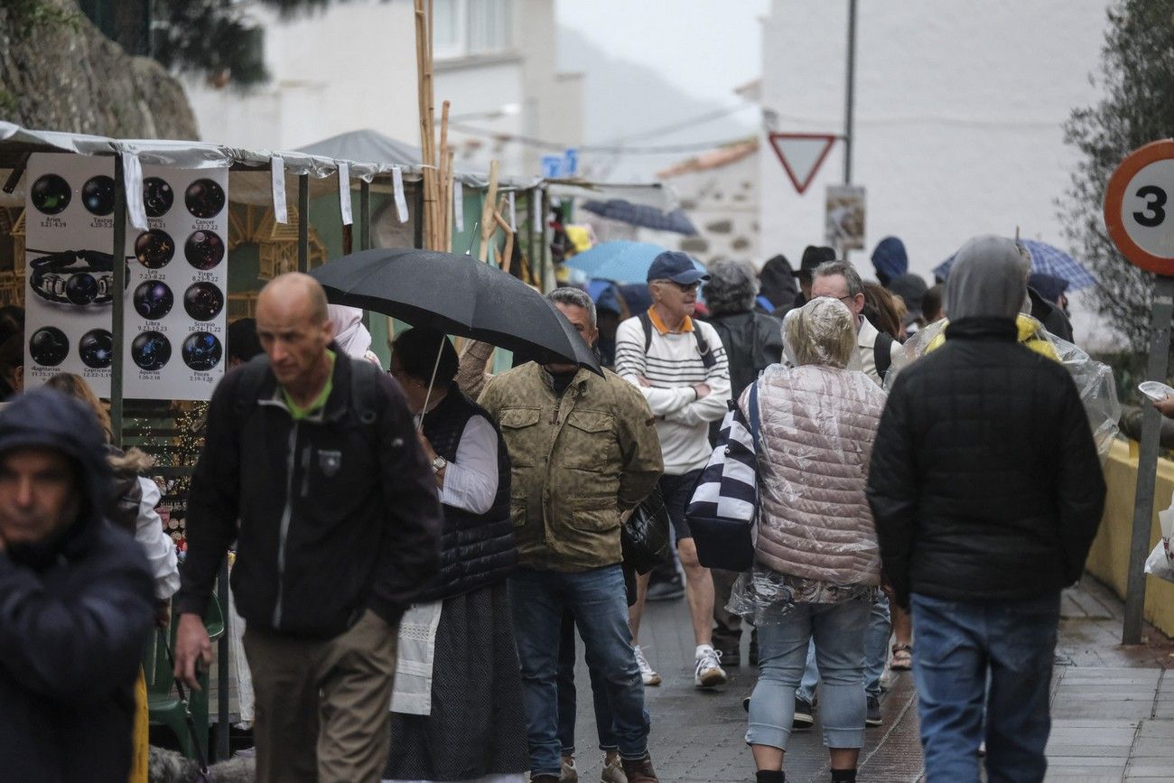
[[[294,636],[336,636],[366,608],[397,625],[437,573],[436,480],[399,384],[370,363],[336,355],[325,406],[301,421],[285,407],[264,355],[216,389],[188,494],[176,613],[203,614],[234,540],[241,616]],[[250,387],[249,378],[261,382]],[[372,389],[373,410],[356,410],[356,380]]]

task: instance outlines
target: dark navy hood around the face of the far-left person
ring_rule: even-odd
[[[97,419],[85,403],[52,389],[20,394],[0,411],[0,454],[26,446],[55,448],[72,458],[80,471],[83,497],[77,521],[63,535],[11,555],[34,566],[58,553],[77,556],[89,548],[102,524],[102,509],[109,504],[110,468]]]

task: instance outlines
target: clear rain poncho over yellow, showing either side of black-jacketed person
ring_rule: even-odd
[[[893,355],[885,385],[891,386],[904,367],[939,347],[945,342],[944,332],[947,324],[946,320],[935,322],[910,337],[902,346],[904,350]],[[1020,343],[1059,362],[1072,374],[1077,391],[1080,392],[1080,401],[1084,403],[1085,412],[1088,414],[1088,426],[1097,443],[1097,453],[1104,463],[1113,439],[1120,431],[1118,421],[1121,418],[1121,403],[1116,398],[1112,367],[1092,358],[1079,346],[1051,333],[1028,315],[1020,313],[1016,324],[1019,328]]]

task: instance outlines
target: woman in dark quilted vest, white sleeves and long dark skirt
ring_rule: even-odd
[[[383,777],[521,781],[529,756],[505,585],[517,561],[510,458],[493,423],[453,383],[447,337],[411,329],[392,350],[391,374],[423,417],[420,445],[445,527],[440,573],[400,625]]]

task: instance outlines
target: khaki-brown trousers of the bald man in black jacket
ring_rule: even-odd
[[[378,783],[391,741],[396,639],[370,609],[325,641],[245,628],[258,783]]]

